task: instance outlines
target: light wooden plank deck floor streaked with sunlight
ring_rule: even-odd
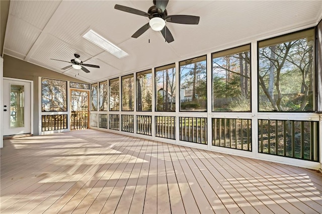
[[[322,174],[96,130],[4,141],[1,213],[321,213]]]

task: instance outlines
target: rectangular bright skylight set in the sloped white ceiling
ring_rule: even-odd
[[[114,56],[116,56],[119,59],[129,55],[128,53],[123,51],[121,48],[117,47],[112,42],[108,41],[107,39],[105,39],[104,37],[102,37],[101,35],[96,33],[95,31],[93,31],[92,29],[90,29],[86,34],[84,34],[83,37],[85,39],[93,42],[94,44],[100,46],[104,50],[110,52],[111,54],[113,54]]]

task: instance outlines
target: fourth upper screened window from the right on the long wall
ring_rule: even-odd
[[[155,111],[176,111],[176,65],[155,69]]]

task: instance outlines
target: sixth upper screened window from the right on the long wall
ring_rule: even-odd
[[[134,110],[134,75],[122,76],[122,111]]]

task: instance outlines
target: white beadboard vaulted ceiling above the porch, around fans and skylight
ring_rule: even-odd
[[[152,0],[12,0],[4,53],[94,82],[315,26],[322,14],[322,1],[170,0],[168,15],[200,16],[200,22],[199,25],[167,23],[175,39],[168,44],[159,32],[151,29],[137,39],[131,38],[148,18],[115,10],[115,4],[144,12],[153,5]],[[118,59],[84,39],[82,35],[90,28],[129,56]],[[74,53],[81,55],[84,63],[101,68],[89,68],[90,73],[73,68],[61,70],[69,64],[50,60],[70,61]]]

